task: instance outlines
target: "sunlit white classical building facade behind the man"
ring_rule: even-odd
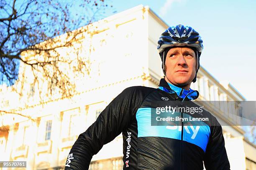
[[[71,99],[56,99],[44,105],[31,100],[26,108],[16,108],[25,115],[34,115],[35,121],[16,119],[16,115],[4,117],[0,128],[0,160],[24,160],[27,161],[25,169],[31,170],[64,169],[69,150],[79,134],[115,96],[134,85],[158,88],[163,73],[156,47],[161,32],[168,25],[143,5],[92,25],[90,29],[97,31],[87,41],[90,44],[84,45],[85,51],[89,47],[93,49],[91,73],[77,80],[79,93]],[[230,84],[220,84],[203,67],[191,88],[200,92],[197,102],[245,100]],[[8,109],[6,103],[11,103],[11,99],[3,97],[1,100]],[[231,169],[255,170],[256,146],[243,137],[245,132],[240,126],[235,126],[239,120],[221,107],[214,108],[212,114],[219,122],[228,124],[223,126],[223,135]],[[93,156],[90,169],[121,170],[122,157],[120,134]]]

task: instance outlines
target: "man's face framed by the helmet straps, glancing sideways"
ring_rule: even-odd
[[[189,47],[173,47],[165,61],[166,77],[174,85],[187,85],[195,78],[197,59]]]

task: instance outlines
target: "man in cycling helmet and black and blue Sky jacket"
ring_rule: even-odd
[[[123,90],[79,135],[65,170],[88,169],[92,156],[120,133],[125,170],[202,170],[203,162],[207,170],[229,170],[222,128],[209,112],[201,113],[210,120],[193,134],[195,127],[189,130],[183,122],[179,126],[151,125],[151,110],[156,109],[152,103],[168,100],[182,105],[198,97],[199,93],[189,87],[196,81],[202,49],[201,37],[193,28],[177,25],[165,30],[158,41],[165,75],[159,88]]]

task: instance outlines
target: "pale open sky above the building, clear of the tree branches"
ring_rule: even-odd
[[[105,16],[148,5],[169,25],[189,25],[200,33],[200,65],[215,79],[228,81],[246,100],[256,100],[255,0],[110,0]],[[164,31],[164,30],[163,30]],[[159,33],[160,35],[161,33]]]

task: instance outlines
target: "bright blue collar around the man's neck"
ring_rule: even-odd
[[[195,100],[199,96],[199,92],[197,90],[192,90],[191,88],[189,88],[189,90],[182,89],[166,82],[164,78],[160,80],[159,89],[164,90],[165,92],[175,93],[179,98],[183,100],[186,100],[186,98],[189,100]]]

